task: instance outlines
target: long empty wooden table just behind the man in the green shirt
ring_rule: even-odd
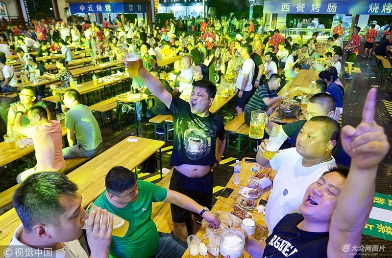
[[[138,142],[127,142],[127,139],[138,139]],[[130,136],[112,148],[99,154],[73,172],[68,178],[77,184],[82,195],[82,207],[86,208],[99,194],[105,190],[105,176],[114,166],[123,166],[134,170],[152,154],[165,145],[162,141]],[[161,155],[160,155],[161,156]],[[162,166],[161,166],[162,168]],[[15,229],[21,224],[15,209],[0,216],[0,252],[7,247]]]

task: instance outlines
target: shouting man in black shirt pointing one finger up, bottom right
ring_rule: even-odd
[[[349,171],[331,169],[309,185],[299,206],[301,214],[286,215],[266,242],[248,237],[246,251],[252,257],[360,257],[353,247],[361,246],[378,164],[390,149],[384,129],[374,121],[375,103],[372,88],[361,123],[342,129],[343,149],[351,157]]]

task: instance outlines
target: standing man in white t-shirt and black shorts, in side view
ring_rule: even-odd
[[[237,96],[235,101],[235,107],[237,114],[240,115],[246,108],[246,104],[252,97],[252,79],[254,74],[255,64],[250,58],[252,53],[252,45],[249,43],[243,44],[240,48],[241,57],[245,60],[241,67],[240,73],[237,78]]]

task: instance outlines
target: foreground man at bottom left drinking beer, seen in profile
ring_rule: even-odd
[[[77,190],[77,185],[60,173],[29,176],[12,200],[22,224],[6,249],[8,257],[15,257],[16,252],[24,255],[29,252],[30,258],[42,258],[44,254],[45,257],[88,258],[77,240],[87,220],[91,257],[108,258],[113,218],[108,219],[107,211],[101,209],[87,215]]]

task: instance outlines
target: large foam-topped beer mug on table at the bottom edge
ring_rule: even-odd
[[[245,235],[240,229],[229,228],[221,234],[218,258],[240,258],[244,253]]]

